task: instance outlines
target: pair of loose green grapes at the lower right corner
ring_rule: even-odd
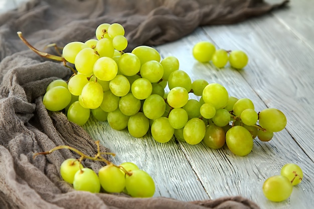
[[[302,169],[294,163],[287,163],[281,167],[280,175],[267,178],[263,184],[263,193],[271,201],[280,202],[287,199],[294,185],[303,178]]]

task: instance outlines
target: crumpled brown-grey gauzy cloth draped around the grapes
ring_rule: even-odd
[[[56,43],[95,37],[101,23],[125,27],[128,50],[177,40],[200,25],[232,24],[285,5],[262,0],[34,0],[0,16],[0,208],[259,208],[230,196],[194,202],[166,197],[131,198],[118,194],[75,191],[59,174],[61,162],[78,157],[58,145],[70,145],[93,156],[97,147],[80,126],[63,113],[49,112],[42,103],[46,87],[71,71],[29,50],[18,38],[23,32],[38,49]],[[49,48],[49,53],[54,50]],[[105,147],[101,147],[106,151]],[[109,157],[108,157],[109,159]],[[104,163],[84,160],[98,170]]]

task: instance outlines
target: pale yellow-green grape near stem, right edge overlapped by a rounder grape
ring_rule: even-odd
[[[75,58],[74,64],[76,70],[83,75],[91,76],[93,73],[94,63],[98,60],[99,55],[91,48],[82,49]]]

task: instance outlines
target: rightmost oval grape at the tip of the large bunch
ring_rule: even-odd
[[[275,108],[267,108],[260,111],[258,121],[262,128],[270,132],[279,132],[287,124],[285,115]]]

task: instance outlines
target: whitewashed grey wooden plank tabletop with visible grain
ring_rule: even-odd
[[[267,1],[275,2],[275,1]],[[136,163],[156,183],[154,196],[184,201],[242,195],[263,209],[312,208],[314,205],[314,0],[291,0],[289,7],[263,17],[229,26],[198,28],[173,43],[155,47],[162,57],[176,56],[180,69],[192,80],[220,83],[229,94],[249,98],[255,109],[277,108],[287,117],[284,130],[269,142],[254,141],[253,151],[235,156],[227,147],[213,150],[203,143],[189,145],[173,138],[154,141],[150,134],[130,136],[107,122],[90,119],[84,128],[95,140],[116,153],[113,161]],[[192,48],[211,41],[217,48],[243,50],[249,56],[245,69],[216,69],[198,63]],[[197,97],[191,97],[197,99]],[[290,198],[271,202],[262,185],[280,174],[285,163],[298,164],[304,177]]]

